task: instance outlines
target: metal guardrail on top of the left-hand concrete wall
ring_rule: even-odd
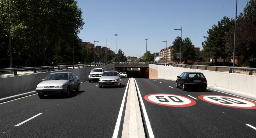
[[[14,76],[17,76],[18,73],[17,71],[19,70],[34,70],[34,73],[37,73],[38,69],[47,69],[47,71],[51,71],[52,68],[58,68],[58,70],[61,70],[61,68],[66,68],[72,67],[73,69],[75,67],[91,67],[91,66],[100,66],[100,65],[109,65],[109,64],[114,64],[114,63],[100,63],[100,64],[76,64],[76,65],[59,65],[59,66],[42,66],[42,67],[24,67],[24,68],[5,68],[5,69],[0,69],[0,72],[3,71],[13,71]]]

